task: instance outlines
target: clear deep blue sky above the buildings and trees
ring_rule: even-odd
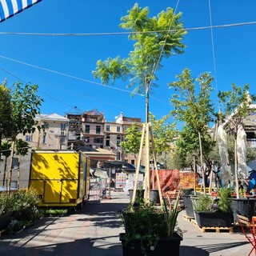
[[[214,76],[212,98],[216,106],[218,90],[230,90],[232,82],[237,86],[249,83],[250,93],[256,94],[256,24],[231,26],[256,22],[254,0],[42,0],[0,23],[1,80],[7,78],[9,86],[16,81],[38,84],[45,101],[43,114],[65,115],[74,112],[77,106],[82,112],[94,108],[104,112],[108,122],[114,121],[120,112],[145,121],[143,97],[131,98],[121,82],[102,86],[91,72],[98,59],[118,55],[126,58],[133,50],[134,42],[126,34],[95,34],[126,32],[118,26],[120,18],[135,2],[141,7],[148,6],[150,17],[178,4],[177,12],[182,12],[181,20],[189,29],[183,41],[184,54],[163,59],[162,70],[157,73],[159,87],[150,97],[150,112],[156,118],[169,114],[173,91],[167,84],[174,82],[185,67],[194,78],[206,71]],[[203,29],[210,26],[210,13],[213,26],[230,26]]]

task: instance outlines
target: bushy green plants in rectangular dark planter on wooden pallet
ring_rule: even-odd
[[[230,227],[234,222],[230,198],[231,190],[221,188],[218,196],[200,194],[194,201],[194,217],[198,226]]]

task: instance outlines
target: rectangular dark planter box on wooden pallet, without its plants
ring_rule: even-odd
[[[221,211],[204,212],[194,210],[195,221],[198,226],[205,227],[230,227],[234,222],[233,213],[224,213]]]

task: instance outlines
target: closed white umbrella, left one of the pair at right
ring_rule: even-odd
[[[223,125],[218,126],[217,140],[218,140],[219,156],[221,158],[220,179],[222,180],[222,185],[225,186],[229,182],[233,182],[234,178],[231,174],[231,168],[229,165],[229,155],[227,152],[227,142],[226,142],[226,131],[223,129]]]

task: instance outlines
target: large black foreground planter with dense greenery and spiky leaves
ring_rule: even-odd
[[[178,229],[177,218],[178,198],[172,206],[164,199],[162,208],[146,203],[143,199],[135,200],[122,210],[121,218],[125,233],[120,234],[122,254],[127,255],[166,255],[166,250],[172,250],[172,255],[179,255],[182,232]]]

